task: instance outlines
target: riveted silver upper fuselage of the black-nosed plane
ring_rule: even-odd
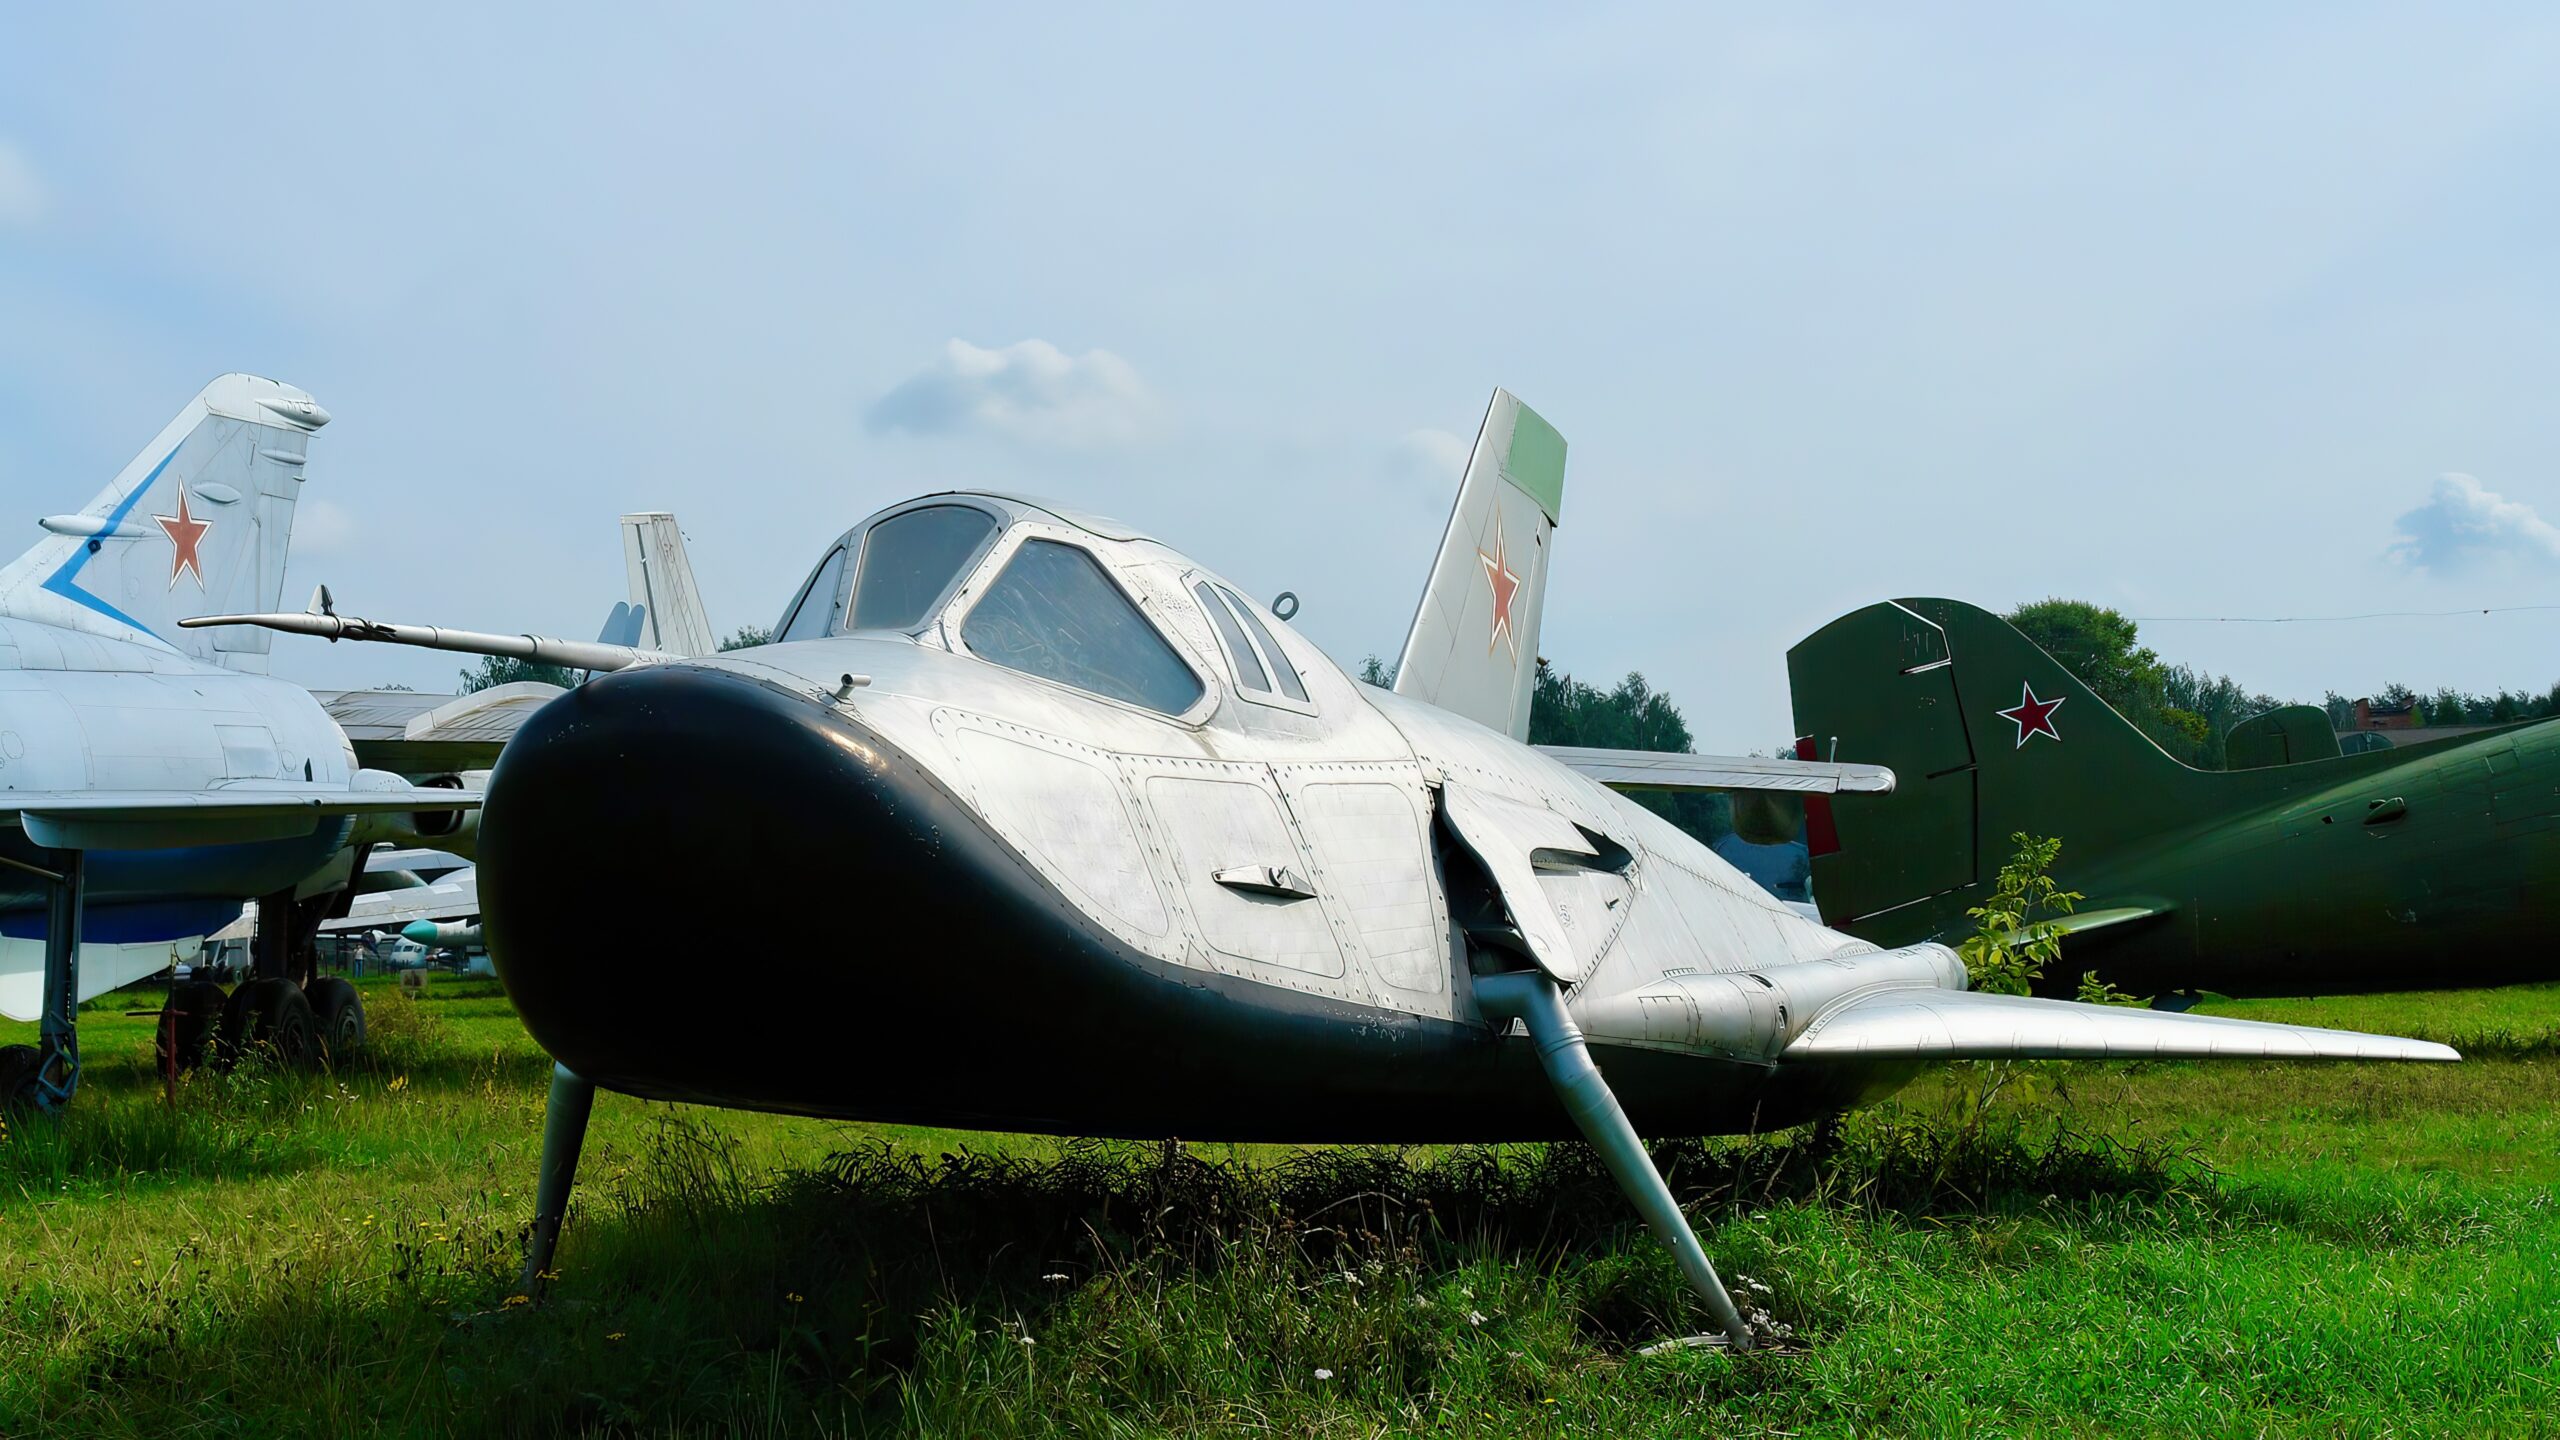
[[[960,641],[986,577],[1024,538],[1085,546],[1206,682],[1183,715],[1121,705],[973,659]],[[1364,687],[1285,625],[1306,702],[1247,697],[1193,584],[1208,577],[1144,538],[1032,515],[975,566],[945,620],[916,635],[835,635],[691,664],[835,700],[968,797],[988,828],[1119,940],[1167,966],[1311,997],[1472,1022],[1452,961],[1434,815],[1452,789],[1549,815],[1623,846],[1631,863],[1541,869],[1536,894],[1572,948],[1577,1004],[1664,976],[1871,953],[1772,899],[1641,805],[1434,705]],[[1272,904],[1219,876],[1275,866],[1313,904]]]

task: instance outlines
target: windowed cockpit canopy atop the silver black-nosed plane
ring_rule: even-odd
[[[1021,530],[1019,538],[1009,536]],[[1149,605],[1198,602],[1198,659],[1224,651],[1236,694],[1260,705],[1308,710],[1306,682],[1272,625],[1229,587],[1208,577],[1172,579],[1170,597],[1142,605],[1124,577],[1098,559],[1088,538],[1111,548],[1142,541],[1108,520],[996,495],[937,495],[855,525],[791,600],[776,641],[824,635],[909,635],[965,651],[980,661],[1032,674],[1160,715],[1185,715],[1208,694],[1206,674],[1149,618]],[[1001,551],[1001,553],[998,553]],[[973,584],[973,577],[991,571]],[[1149,577],[1142,571],[1139,582]],[[968,589],[965,602],[957,602]],[[1142,584],[1144,589],[1144,584]],[[957,605],[955,605],[957,602]]]

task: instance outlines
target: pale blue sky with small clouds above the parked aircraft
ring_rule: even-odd
[[[292,600],[584,638],[668,507],[727,630],[986,484],[1352,664],[1508,384],[1572,441],[1541,648],[1710,748],[1889,594],[2560,600],[2540,8],[353,10],[10,20],[10,510],[251,369],[338,418]],[[2145,635],[2312,700],[2560,676],[2560,612]]]

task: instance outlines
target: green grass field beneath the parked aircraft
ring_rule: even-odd
[[[84,1020],[0,1140],[0,1435],[2560,1435],[2560,986],[2217,1004],[2463,1066],[2051,1066],[1669,1145],[1792,1353],[1577,1145],[1234,1156],[602,1097],[515,1302],[548,1063],[369,989],[338,1076]],[[0,1043],[23,1040],[0,1025]]]

